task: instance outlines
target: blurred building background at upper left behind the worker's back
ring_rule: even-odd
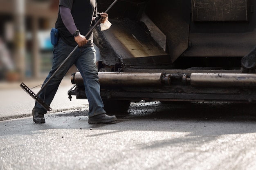
[[[45,77],[58,0],[0,0],[0,81]]]

